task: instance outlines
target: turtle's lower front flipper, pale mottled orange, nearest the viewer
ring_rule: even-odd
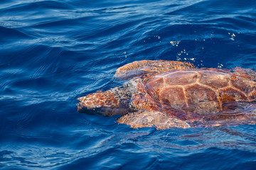
[[[169,128],[191,128],[188,123],[159,111],[138,111],[128,113],[117,120],[118,123],[130,125],[131,128],[154,127],[158,130]]]

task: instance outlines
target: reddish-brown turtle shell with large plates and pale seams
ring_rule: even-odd
[[[179,69],[156,74],[146,80],[145,86],[161,111],[182,111],[189,116],[225,111],[240,101],[255,101],[256,84],[250,78],[225,69]]]

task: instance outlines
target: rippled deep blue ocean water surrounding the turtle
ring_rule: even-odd
[[[156,130],[78,113],[137,60],[256,69],[254,0],[1,0],[1,169],[255,169],[256,126]]]

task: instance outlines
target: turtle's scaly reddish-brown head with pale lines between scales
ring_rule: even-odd
[[[112,116],[123,115],[128,112],[128,108],[122,106],[117,95],[110,90],[88,94],[78,98],[78,101],[80,101],[77,104],[80,113]]]

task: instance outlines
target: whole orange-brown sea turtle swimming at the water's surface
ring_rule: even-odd
[[[142,60],[120,67],[115,77],[129,81],[78,98],[78,111],[122,115],[118,123],[162,130],[256,122],[256,74],[251,69]]]

